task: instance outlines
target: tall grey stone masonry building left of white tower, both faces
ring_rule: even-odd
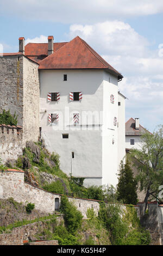
[[[39,138],[38,64],[17,54],[0,58],[0,113],[16,112],[17,125],[23,126],[23,145]]]

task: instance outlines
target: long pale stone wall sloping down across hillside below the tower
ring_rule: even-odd
[[[24,205],[26,201],[34,203],[35,209],[49,214],[55,211],[55,199],[59,199],[59,204],[61,199],[60,194],[51,193],[24,182],[24,172],[13,169],[8,169],[4,172],[0,171],[0,198],[7,199],[9,197],[14,198],[19,203],[22,202]],[[88,208],[93,208],[98,214],[98,200],[73,197],[68,197],[68,200],[77,206],[84,218],[86,218]],[[126,206],[122,205],[122,208],[125,209]],[[137,215],[139,216],[139,211],[137,211]]]

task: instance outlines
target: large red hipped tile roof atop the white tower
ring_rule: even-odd
[[[39,69],[108,69],[123,78],[79,36],[41,60]]]

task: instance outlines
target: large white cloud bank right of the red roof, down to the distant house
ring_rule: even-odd
[[[129,99],[127,119],[140,117],[142,125],[153,131],[163,120],[163,57],[159,57],[159,48],[149,50],[150,42],[121,21],[70,26],[69,38],[76,35],[124,76],[119,87]]]

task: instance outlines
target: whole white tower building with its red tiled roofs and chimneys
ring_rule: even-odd
[[[85,178],[85,186],[115,186],[125,156],[126,97],[118,92],[123,76],[79,36],[61,43],[48,36],[47,44],[26,46],[19,41],[17,54],[38,66],[46,148],[60,155],[63,172]]]

